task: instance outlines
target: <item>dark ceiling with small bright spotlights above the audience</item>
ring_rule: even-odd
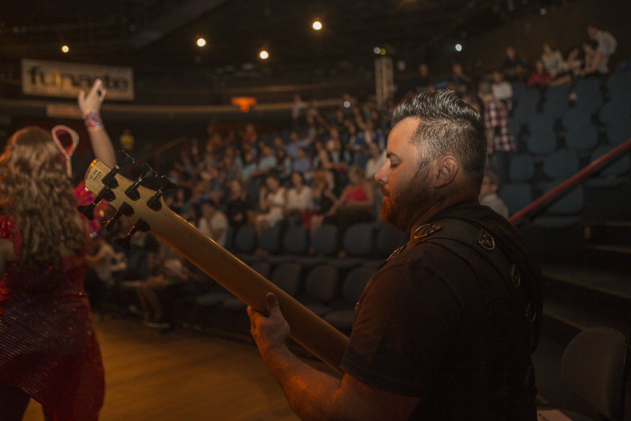
[[[447,45],[562,0],[5,1],[0,63],[21,58],[228,74],[371,66],[373,49],[416,66]],[[315,31],[319,18],[323,28]],[[195,42],[203,36],[208,44]],[[451,44],[449,44],[451,43]],[[68,54],[61,46],[70,47]],[[269,59],[257,54],[262,48]]]

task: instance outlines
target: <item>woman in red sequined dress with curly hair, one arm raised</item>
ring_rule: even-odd
[[[81,92],[93,152],[114,166],[97,80]],[[105,382],[83,290],[89,225],[76,210],[61,143],[16,131],[0,155],[0,419],[21,420],[30,398],[52,420],[97,420]],[[69,168],[69,167],[68,167]],[[83,189],[81,189],[83,190]],[[76,197],[77,196],[77,197]]]

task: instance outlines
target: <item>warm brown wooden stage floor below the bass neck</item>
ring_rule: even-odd
[[[105,366],[102,421],[298,420],[254,343],[192,331],[160,336],[139,319],[95,326]],[[31,400],[23,421],[42,419]]]

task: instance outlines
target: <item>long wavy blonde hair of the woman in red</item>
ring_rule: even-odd
[[[74,253],[85,245],[62,159],[50,132],[35,126],[16,131],[0,155],[0,214],[20,227],[22,267],[60,262],[60,245]]]

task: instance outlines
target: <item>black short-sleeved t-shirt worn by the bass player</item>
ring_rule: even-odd
[[[468,203],[435,219],[445,216],[483,224],[510,249],[506,255],[529,265],[522,282],[540,283],[532,253],[498,214]],[[341,368],[370,386],[420,397],[410,419],[536,419],[529,338],[515,322],[523,314],[477,273],[430,242],[390,259],[360,298]]]

